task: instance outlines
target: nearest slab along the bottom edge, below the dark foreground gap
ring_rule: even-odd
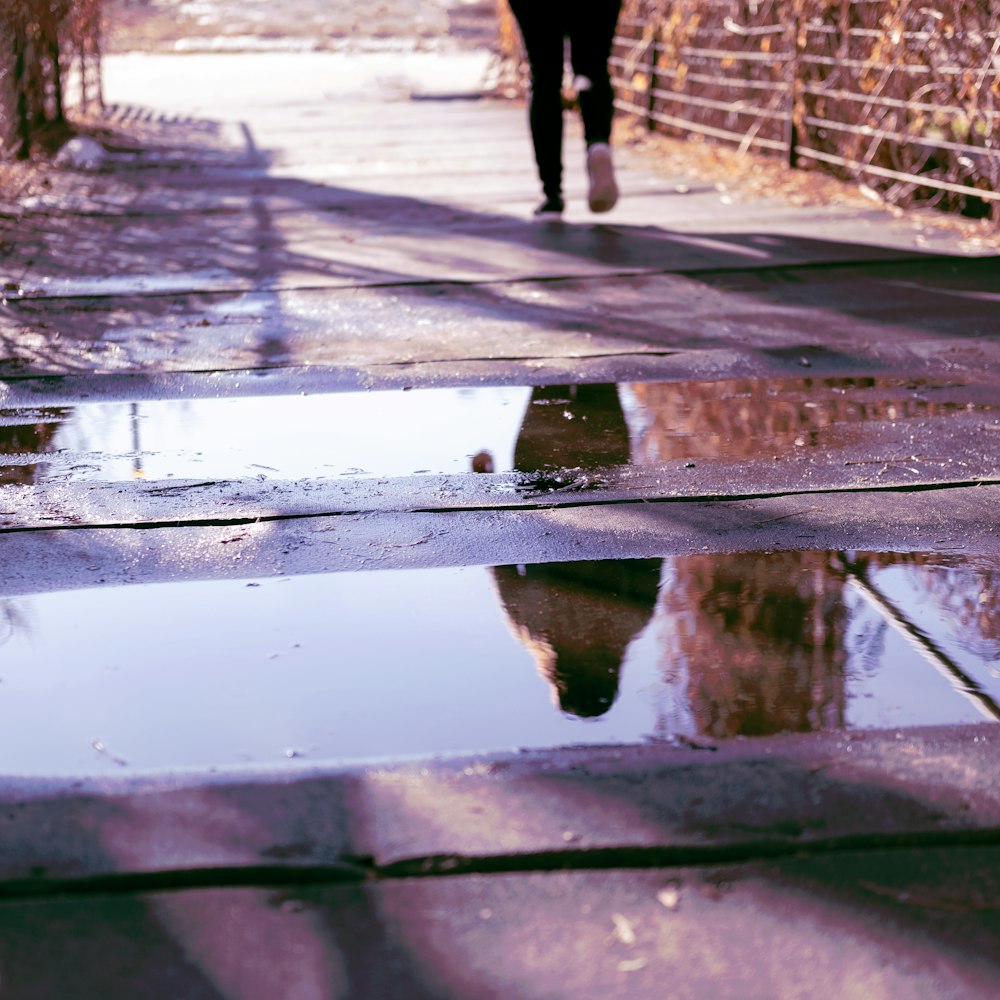
[[[994,854],[11,901],[0,957],[25,998],[987,998]]]

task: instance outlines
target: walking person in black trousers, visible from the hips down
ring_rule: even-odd
[[[559,219],[565,209],[562,78],[567,38],[587,143],[587,203],[592,212],[610,212],[618,202],[618,185],[611,157],[614,92],[608,59],[622,0],[509,2],[531,69],[528,119],[543,195],[535,217]]]

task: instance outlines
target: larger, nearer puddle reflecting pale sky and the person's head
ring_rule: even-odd
[[[82,774],[988,723],[998,582],[805,552],[40,594],[0,603],[0,755]]]

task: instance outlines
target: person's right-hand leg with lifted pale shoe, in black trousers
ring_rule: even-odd
[[[583,133],[587,141],[588,203],[593,212],[608,212],[618,201],[611,159],[611,122],[614,91],[608,73],[611,44],[621,11],[621,0],[589,0],[581,4],[586,16],[573,19],[570,45]]]

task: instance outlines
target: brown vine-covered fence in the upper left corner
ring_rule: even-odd
[[[0,156],[27,156],[71,105],[101,101],[103,0],[3,0]]]

